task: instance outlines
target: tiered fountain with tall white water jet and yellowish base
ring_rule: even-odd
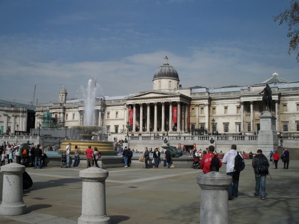
[[[92,80],[88,81],[87,89],[81,86],[81,90],[84,97],[84,120],[83,126],[71,127],[70,139],[63,140],[60,145],[60,152],[64,152],[64,149],[69,142],[72,143],[72,149],[75,145],[78,145],[81,149],[81,154],[84,153],[88,145],[92,148],[97,147],[102,155],[117,155],[118,152],[114,150],[113,142],[107,141],[108,135],[103,126],[94,126],[94,108],[96,100],[96,85],[92,88]],[[73,150],[72,150],[73,151]]]

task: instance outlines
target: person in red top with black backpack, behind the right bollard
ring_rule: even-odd
[[[219,168],[222,166],[221,160],[217,155],[214,154],[215,147],[213,145],[209,146],[209,152],[205,154],[200,162],[200,169],[204,174],[219,171]]]

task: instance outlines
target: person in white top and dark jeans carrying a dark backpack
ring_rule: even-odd
[[[226,164],[226,174],[233,178],[232,184],[228,187],[228,200],[238,197],[240,171],[235,169],[235,158],[238,154],[237,145],[233,144],[231,150],[225,153],[222,159],[222,163]]]

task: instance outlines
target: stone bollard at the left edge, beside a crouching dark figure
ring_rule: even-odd
[[[23,202],[23,172],[25,166],[17,163],[9,163],[1,166],[3,173],[2,203],[0,215],[18,216],[26,211],[26,204]]]

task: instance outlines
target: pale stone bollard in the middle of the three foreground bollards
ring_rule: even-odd
[[[82,178],[82,214],[78,224],[109,224],[106,214],[105,181],[109,172],[98,167],[91,167],[79,172]]]

